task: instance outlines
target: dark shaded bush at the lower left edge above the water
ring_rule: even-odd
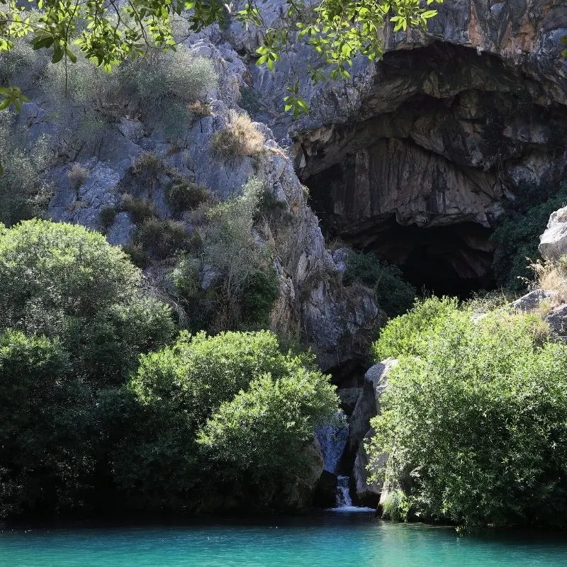
[[[89,393],[57,340],[0,332],[0,518],[76,495]]]

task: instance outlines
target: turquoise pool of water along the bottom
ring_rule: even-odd
[[[567,541],[459,538],[370,514],[0,533],[1,567],[566,567]]]

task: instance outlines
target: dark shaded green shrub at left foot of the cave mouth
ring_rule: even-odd
[[[415,298],[415,288],[403,280],[398,266],[388,264],[372,253],[350,252],[343,281],[347,286],[357,282],[374,289],[378,303],[388,317],[405,313]]]

